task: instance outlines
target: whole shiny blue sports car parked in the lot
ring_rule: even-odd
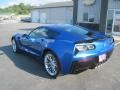
[[[114,49],[111,36],[73,25],[43,25],[12,37],[15,53],[37,57],[51,77],[74,73],[106,62]]]

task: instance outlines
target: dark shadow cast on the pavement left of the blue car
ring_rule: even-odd
[[[30,55],[22,53],[15,54],[12,51],[11,45],[0,47],[0,50],[3,52],[2,55],[7,55],[17,68],[24,70],[28,73],[34,74],[36,76],[51,79],[45,72],[43,65]]]

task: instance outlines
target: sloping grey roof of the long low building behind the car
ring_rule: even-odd
[[[64,2],[55,2],[55,3],[48,3],[41,6],[35,6],[31,9],[44,9],[44,8],[57,8],[57,7],[72,7],[73,1],[64,1]]]

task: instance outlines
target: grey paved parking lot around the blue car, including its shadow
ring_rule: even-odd
[[[120,45],[102,66],[57,79],[50,79],[34,58],[14,54],[11,36],[37,26],[39,24],[0,24],[0,90],[120,90]]]

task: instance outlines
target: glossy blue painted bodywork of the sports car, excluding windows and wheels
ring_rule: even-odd
[[[64,25],[73,27],[72,25]],[[44,50],[49,49],[53,51],[59,59],[61,72],[63,74],[70,73],[70,69],[72,63],[74,61],[80,61],[85,58],[93,58],[104,54],[106,52],[112,51],[114,48],[114,42],[110,43],[110,39],[108,36],[93,32],[95,36],[87,36],[87,35],[72,35],[70,33],[59,30],[59,27],[63,27],[62,25],[46,25],[45,28],[54,28],[56,31],[60,32],[60,35],[55,39],[48,38],[26,38],[23,37],[22,34],[16,34],[13,36],[18,43],[18,46],[21,50],[31,53],[35,56],[42,56]],[[105,37],[105,39],[100,39]],[[99,38],[100,40],[96,40],[92,42],[96,46],[95,50],[89,50],[85,52],[79,52],[74,54],[75,42],[77,41],[85,41],[89,39]],[[83,43],[84,44],[84,43]]]

